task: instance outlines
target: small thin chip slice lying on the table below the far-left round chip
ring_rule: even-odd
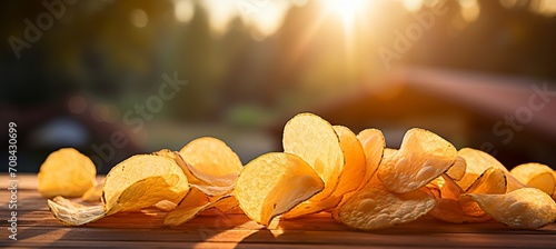
[[[102,205],[82,206],[63,197],[48,200],[50,212],[66,226],[82,226],[106,216]]]

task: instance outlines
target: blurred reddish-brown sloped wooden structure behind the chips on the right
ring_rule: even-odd
[[[538,96],[545,87],[550,92]],[[530,98],[535,99],[533,106]],[[508,168],[529,161],[556,168],[553,82],[437,68],[393,68],[383,78],[306,111],[356,133],[379,128],[391,148],[399,147],[407,129],[420,127],[457,148],[485,150]],[[284,123],[294,114],[287,113],[276,122],[279,124],[272,130],[277,136],[281,138]],[[506,124],[507,116],[513,116],[515,123]]]

